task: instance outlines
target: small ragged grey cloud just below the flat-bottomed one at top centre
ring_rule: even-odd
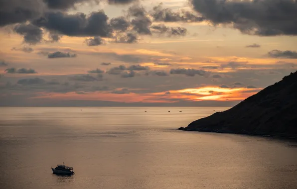
[[[184,27],[167,27],[164,24],[152,25],[150,27],[152,32],[159,34],[166,34],[168,37],[171,36],[185,36],[187,29]]]

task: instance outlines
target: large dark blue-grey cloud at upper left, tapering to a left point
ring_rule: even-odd
[[[56,11],[46,12],[43,17],[34,20],[33,24],[68,36],[108,37],[112,30],[107,20],[103,10],[91,12],[89,15]]]

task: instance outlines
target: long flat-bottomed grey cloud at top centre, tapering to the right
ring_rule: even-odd
[[[153,17],[154,21],[161,22],[199,22],[203,21],[204,18],[194,14],[193,12],[181,10],[172,11],[170,8],[163,8],[162,3],[152,8],[150,15]]]

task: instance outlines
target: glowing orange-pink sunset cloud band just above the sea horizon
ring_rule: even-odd
[[[147,102],[147,103],[173,103],[183,101],[202,101],[202,100],[243,100],[250,95],[254,95],[261,89],[246,88],[219,88],[219,87],[202,87],[196,89],[183,89],[176,91],[167,91],[161,93],[137,94],[132,91],[129,94],[114,94],[111,91],[90,92],[90,93],[38,93],[38,96],[32,98],[47,98],[58,100],[98,100],[98,101],[115,101],[115,102]]]

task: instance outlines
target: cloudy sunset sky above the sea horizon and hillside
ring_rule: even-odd
[[[233,106],[297,70],[296,0],[0,0],[0,106]]]

